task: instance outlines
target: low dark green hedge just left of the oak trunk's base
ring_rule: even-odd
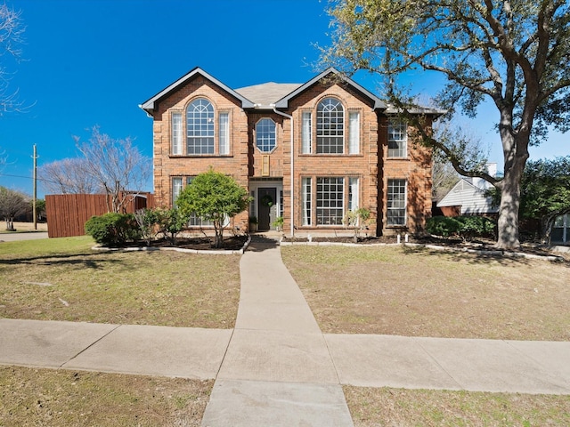
[[[493,238],[495,228],[495,222],[485,216],[434,216],[426,224],[429,234],[444,238],[459,236],[464,240]]]

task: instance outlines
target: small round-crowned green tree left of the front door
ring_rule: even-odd
[[[248,191],[224,173],[210,169],[200,173],[176,199],[183,214],[196,214],[214,223],[216,240],[214,246],[224,246],[224,221],[248,208],[251,197]]]

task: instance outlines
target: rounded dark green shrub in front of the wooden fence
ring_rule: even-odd
[[[140,238],[140,230],[133,214],[103,214],[85,222],[85,232],[100,245],[122,246]]]

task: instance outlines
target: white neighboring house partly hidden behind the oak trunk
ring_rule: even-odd
[[[496,164],[488,164],[488,173],[495,176]],[[497,214],[498,206],[493,206],[491,197],[485,196],[485,191],[492,185],[482,178],[462,177],[460,181],[439,201],[437,207],[445,216]]]

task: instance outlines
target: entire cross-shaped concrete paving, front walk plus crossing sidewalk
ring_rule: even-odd
[[[233,330],[0,318],[0,364],[216,379],[204,427],[350,426],[340,384],[570,394],[570,342],[322,334],[275,242],[240,273]]]

